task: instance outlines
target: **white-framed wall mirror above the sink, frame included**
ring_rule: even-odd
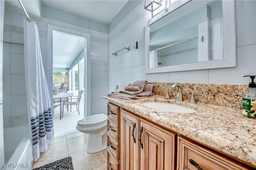
[[[234,0],[178,0],[145,34],[146,73],[236,66]]]

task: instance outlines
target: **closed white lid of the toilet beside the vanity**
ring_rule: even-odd
[[[78,125],[86,126],[86,125],[98,125],[107,121],[108,116],[105,114],[96,114],[88,117],[84,117],[83,119],[78,121]]]

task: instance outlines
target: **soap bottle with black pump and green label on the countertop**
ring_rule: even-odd
[[[250,77],[252,82],[249,83],[249,88],[246,90],[243,97],[243,115],[251,118],[256,118],[256,83],[254,82],[255,76]]]

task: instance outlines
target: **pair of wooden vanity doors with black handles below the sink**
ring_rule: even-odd
[[[175,133],[121,109],[120,169],[174,169],[175,136]]]

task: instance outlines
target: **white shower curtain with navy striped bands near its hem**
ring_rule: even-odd
[[[54,138],[52,108],[42,64],[38,28],[24,20],[24,56],[28,115],[30,115],[34,161]]]

